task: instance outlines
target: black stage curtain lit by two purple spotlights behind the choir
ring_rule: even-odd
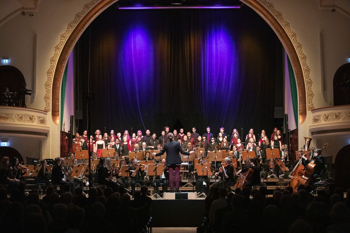
[[[282,45],[250,8],[106,9],[77,43],[80,109],[91,133],[272,131]],[[89,78],[88,78],[89,77]],[[282,87],[280,87],[282,88]],[[77,89],[76,89],[77,90]],[[76,91],[76,95],[77,95]],[[280,96],[283,98],[283,96]]]

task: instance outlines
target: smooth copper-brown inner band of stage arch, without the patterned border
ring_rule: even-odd
[[[70,36],[67,38],[62,51],[57,59],[55,66],[55,73],[52,80],[52,94],[51,94],[51,117],[52,121],[58,125],[59,123],[59,94],[61,88],[61,80],[64,71],[64,67],[67,63],[68,57],[73,50],[74,45],[78,41],[79,37],[82,35],[84,30],[89,26],[89,24],[106,8],[111,6],[118,0],[101,0],[97,2],[77,23],[77,26],[72,29]],[[306,119],[306,88],[304,82],[304,75],[301,66],[301,61],[299,60],[298,54],[294,48],[293,41],[289,38],[287,32],[283,29],[279,21],[275,18],[273,14],[265,8],[262,3],[258,0],[241,0],[247,6],[251,7],[255,12],[257,12],[274,30],[276,35],[279,37],[282,45],[284,46],[289,58],[292,63],[293,70],[295,73],[295,79],[297,82],[298,89],[298,99],[299,99],[299,121],[302,124]],[[312,103],[312,101],[311,101]],[[49,110],[49,109],[45,109]]]

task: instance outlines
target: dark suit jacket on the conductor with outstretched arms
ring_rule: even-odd
[[[181,163],[181,157],[179,155],[179,152],[184,155],[190,155],[190,153],[183,151],[181,148],[181,145],[177,141],[169,141],[168,143],[164,144],[164,147],[162,150],[160,150],[159,153],[157,153],[155,156],[163,155],[165,152],[167,152],[167,158],[165,165],[169,164],[180,164]]]

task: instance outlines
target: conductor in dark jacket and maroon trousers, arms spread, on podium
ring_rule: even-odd
[[[184,155],[193,154],[194,151],[186,152],[182,150],[182,147],[179,142],[174,141],[174,134],[168,133],[169,142],[164,144],[162,150],[159,153],[152,153],[153,156],[160,156],[167,152],[166,162],[167,168],[169,169],[169,186],[170,192],[180,192],[180,164],[181,157],[179,152]],[[173,177],[175,176],[175,182]],[[176,188],[176,189],[175,189]]]

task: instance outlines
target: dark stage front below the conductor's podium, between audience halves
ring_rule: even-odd
[[[198,227],[205,214],[204,199],[152,200],[152,227]]]

